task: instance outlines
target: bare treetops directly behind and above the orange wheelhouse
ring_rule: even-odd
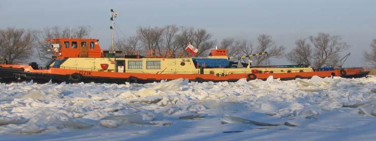
[[[38,36],[38,55],[41,60],[48,60],[51,59],[53,55],[50,50],[50,45],[48,42],[45,42],[46,39],[53,39],[53,38],[85,38],[88,37],[90,34],[91,28],[89,26],[78,26],[77,28],[69,28],[69,27],[46,27],[42,31],[39,32]],[[73,33],[73,34],[72,34]]]

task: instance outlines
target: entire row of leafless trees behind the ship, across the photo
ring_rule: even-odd
[[[27,59],[38,56],[42,60],[50,59],[51,52],[46,39],[52,38],[85,38],[90,35],[89,26],[47,27],[43,30],[27,30],[9,27],[0,29],[0,58],[5,58],[11,64],[27,63]],[[115,49],[127,53],[153,50],[156,53],[180,54],[191,43],[198,49],[196,57],[208,56],[209,51],[216,45],[227,49],[228,56],[235,59],[255,53],[267,52],[268,56],[255,56],[253,65],[265,65],[269,58],[286,58],[292,64],[311,65],[316,68],[338,66],[340,53],[347,51],[350,45],[339,35],[318,33],[295,41],[294,48],[285,53],[285,46],[278,45],[272,36],[260,34],[255,39],[224,38],[220,41],[213,39],[213,34],[203,28],[193,28],[177,25],[163,27],[139,26],[136,33],[129,37],[118,39]],[[371,52],[365,51],[364,60],[369,65],[376,66],[376,39],[370,45]],[[183,52],[186,54],[186,52]],[[247,62],[249,58],[243,58]]]

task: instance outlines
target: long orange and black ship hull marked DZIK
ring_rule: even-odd
[[[251,73],[251,74],[227,74],[217,76],[214,74],[150,74],[150,73],[127,73],[127,72],[104,72],[104,71],[84,71],[74,69],[49,68],[35,70],[31,66],[25,65],[0,65],[0,79],[3,82],[34,80],[40,82],[107,82],[107,83],[146,83],[161,81],[163,79],[173,80],[178,78],[189,79],[190,81],[237,81],[246,78],[247,80],[266,80],[269,76],[280,78],[281,80],[291,80],[295,78],[311,78],[312,76],[331,77],[340,76],[345,78],[359,78],[367,76],[369,71],[363,68],[335,69],[332,71],[313,72],[291,72],[291,73]]]

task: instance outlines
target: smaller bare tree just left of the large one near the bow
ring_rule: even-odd
[[[296,47],[286,55],[287,60],[294,64],[310,65],[312,60],[311,44],[307,43],[305,39],[298,39],[295,41]]]

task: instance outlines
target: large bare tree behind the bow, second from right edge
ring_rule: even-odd
[[[349,44],[341,42],[342,38],[338,35],[319,33],[316,37],[310,36],[309,39],[314,46],[313,63],[317,68],[324,65],[337,66],[339,53],[350,48]]]

